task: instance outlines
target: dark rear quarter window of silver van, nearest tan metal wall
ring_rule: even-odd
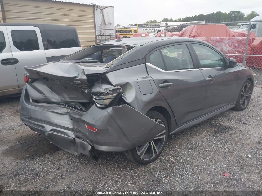
[[[45,30],[48,49],[80,47],[76,30]]]

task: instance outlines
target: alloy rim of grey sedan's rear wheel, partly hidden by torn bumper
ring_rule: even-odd
[[[161,119],[153,118],[152,120],[165,126]],[[137,146],[137,155],[140,157],[140,159],[143,160],[153,159],[156,155],[158,155],[159,151],[162,149],[165,140],[166,129],[164,129],[162,132],[156,135],[152,141],[147,142],[141,146]]]

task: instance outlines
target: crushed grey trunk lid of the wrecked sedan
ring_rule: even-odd
[[[91,102],[92,81],[100,80],[107,71],[104,63],[81,63],[60,61],[24,67],[31,83],[27,84],[29,96],[33,100],[47,102]]]

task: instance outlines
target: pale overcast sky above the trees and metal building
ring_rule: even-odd
[[[76,3],[113,5],[115,25],[145,23],[148,20],[161,21],[163,18],[183,18],[198,14],[240,10],[246,14],[255,10],[262,15],[261,0],[60,0]]]

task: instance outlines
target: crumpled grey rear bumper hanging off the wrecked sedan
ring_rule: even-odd
[[[20,116],[29,128],[75,155],[90,156],[91,146],[101,151],[126,151],[153,140],[165,128],[126,104],[105,109],[93,105],[87,112],[81,112],[65,106],[33,103],[26,87],[20,99]]]

